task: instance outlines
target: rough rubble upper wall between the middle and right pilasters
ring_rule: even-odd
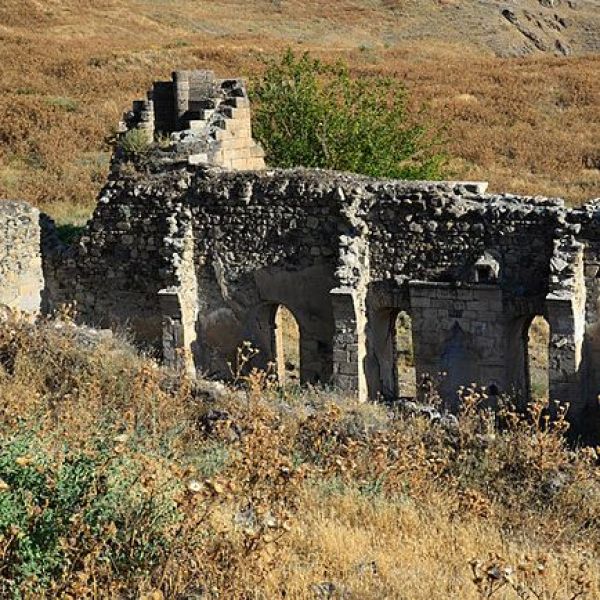
[[[368,216],[372,280],[469,282],[488,251],[501,263],[506,293],[545,294],[562,203],[444,183],[382,187]]]

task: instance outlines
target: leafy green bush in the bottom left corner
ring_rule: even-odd
[[[147,492],[143,470],[112,443],[62,456],[31,433],[0,444],[0,596],[56,590],[92,564],[116,577],[149,573],[179,514],[173,486]]]

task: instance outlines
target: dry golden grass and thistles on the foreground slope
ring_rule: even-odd
[[[468,392],[444,426],[260,373],[203,389],[3,326],[2,597],[600,596],[597,456],[541,405],[496,421]]]

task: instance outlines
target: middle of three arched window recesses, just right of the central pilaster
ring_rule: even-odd
[[[410,315],[399,309],[373,311],[368,321],[369,397],[397,400],[416,395]]]

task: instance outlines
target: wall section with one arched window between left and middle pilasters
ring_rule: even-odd
[[[327,382],[340,201],[307,172],[198,175],[189,195],[198,257],[197,362],[223,373],[248,340],[275,362],[275,312],[300,328],[301,380]]]

